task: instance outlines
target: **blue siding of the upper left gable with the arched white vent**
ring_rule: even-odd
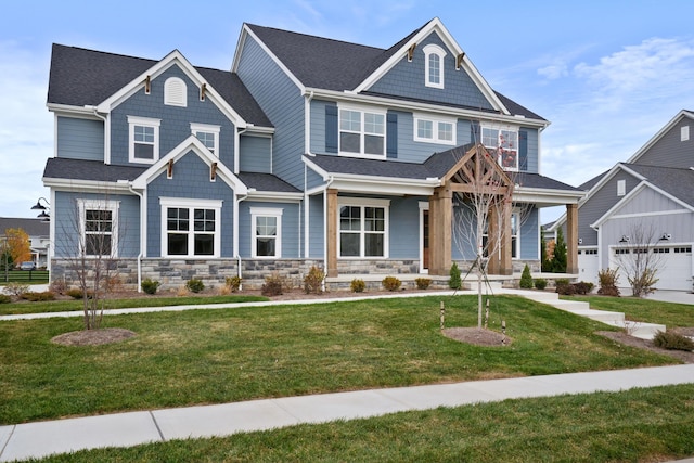
[[[188,106],[169,106],[164,104],[164,82],[169,77],[179,77],[185,82]],[[234,125],[210,101],[200,101],[200,89],[178,67],[172,66],[163,75],[152,80],[150,94],[141,89],[123,102],[112,112],[111,117],[111,163],[127,165],[128,163],[128,116],[151,117],[160,119],[159,158],[166,156],[174,147],[191,136],[191,123],[220,126],[219,159],[231,170],[234,166]],[[142,165],[142,164],[138,164]]]

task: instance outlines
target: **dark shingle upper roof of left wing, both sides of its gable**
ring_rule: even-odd
[[[154,60],[54,43],[48,103],[95,106],[156,63]],[[206,67],[196,67],[196,70],[246,121],[272,127],[239,76]]]

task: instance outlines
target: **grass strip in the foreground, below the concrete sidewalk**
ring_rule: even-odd
[[[626,462],[694,455],[694,385],[506,400],[43,462]]]

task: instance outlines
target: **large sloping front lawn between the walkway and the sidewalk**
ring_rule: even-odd
[[[597,336],[606,325],[496,297],[513,344],[439,332],[441,297],[113,316],[138,336],[99,347],[50,339],[79,318],[0,323],[0,424],[375,387],[671,364]],[[475,296],[445,297],[447,326],[475,326]]]

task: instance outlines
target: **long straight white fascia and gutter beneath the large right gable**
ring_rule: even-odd
[[[395,108],[402,110],[409,113],[414,113],[419,111],[424,113],[441,114],[441,115],[448,115],[452,117],[461,117],[461,118],[467,118],[467,119],[480,120],[480,121],[481,120],[488,120],[492,123],[506,121],[509,124],[520,125],[523,127],[540,128],[540,129],[544,129],[550,125],[549,120],[530,119],[530,118],[519,119],[518,117],[511,116],[511,115],[486,113],[486,112],[474,111],[474,110],[463,110],[463,108],[437,105],[432,103],[420,103],[414,101],[396,100],[396,99],[389,99],[384,97],[356,94],[351,92],[345,93],[345,92],[339,92],[335,90],[324,90],[324,89],[317,89],[317,88],[307,88],[306,91],[307,92],[312,91],[314,99],[320,98],[320,99],[327,99],[333,101],[346,101],[352,104],[357,102],[361,102],[363,104],[382,105],[391,110],[395,110]]]

